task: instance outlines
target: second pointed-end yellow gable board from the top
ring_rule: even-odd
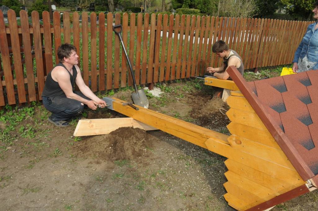
[[[258,115],[255,112],[247,112],[235,108],[230,108],[230,110],[226,112],[226,115],[232,122],[255,127],[261,130],[266,130],[265,125],[259,119]]]

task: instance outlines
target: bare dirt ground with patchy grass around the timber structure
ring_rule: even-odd
[[[211,99],[212,87],[159,87],[149,109],[229,134],[228,107]],[[130,101],[130,92],[107,94]],[[0,210],[233,210],[223,198],[225,158],[168,133],[126,127],[75,138],[77,120],[55,127],[41,104],[0,114]],[[82,116],[118,117],[107,109]],[[318,210],[317,202],[313,192],[273,210]]]

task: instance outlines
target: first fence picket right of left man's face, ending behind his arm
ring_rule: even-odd
[[[88,52],[88,15],[87,12],[82,13],[82,52]],[[83,79],[87,86],[89,86],[88,73],[88,53],[83,53]]]

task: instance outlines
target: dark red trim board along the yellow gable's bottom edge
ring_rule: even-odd
[[[232,76],[231,76],[232,78]],[[279,196],[276,196],[275,198],[265,201],[255,207],[249,208],[245,211],[261,211],[261,210],[266,210],[268,208],[274,207],[275,205],[278,205],[280,203],[283,203],[285,201],[288,201],[290,199],[294,199],[297,196],[300,196],[302,194],[306,194],[309,192],[309,189],[307,188],[306,185],[302,185],[299,187],[296,187],[293,190],[290,190],[284,194],[280,194]]]

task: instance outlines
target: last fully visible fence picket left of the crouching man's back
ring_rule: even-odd
[[[39,99],[42,99],[42,92],[44,89],[44,70],[43,70],[43,57],[42,57],[42,43],[40,32],[40,18],[38,11],[32,11],[32,26],[33,26],[33,39],[34,39],[34,52],[35,62],[37,67],[38,78],[38,95]]]

